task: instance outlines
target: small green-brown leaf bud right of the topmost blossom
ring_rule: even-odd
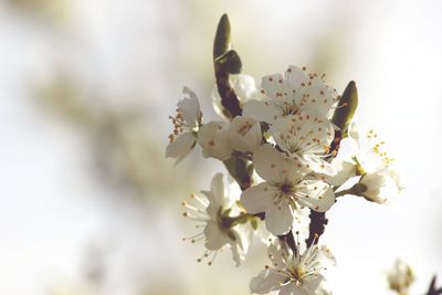
[[[358,89],[355,81],[350,81],[339,99],[332,122],[340,128],[343,138],[347,137],[347,128],[358,106]]]

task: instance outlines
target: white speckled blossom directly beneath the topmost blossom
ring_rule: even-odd
[[[335,131],[320,114],[301,112],[277,118],[271,127],[277,146],[291,157],[317,173],[334,175],[336,170],[325,159],[330,156]]]

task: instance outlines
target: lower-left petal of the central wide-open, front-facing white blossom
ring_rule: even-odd
[[[250,214],[264,212],[273,203],[275,189],[266,182],[248,188],[241,193],[241,202]]]

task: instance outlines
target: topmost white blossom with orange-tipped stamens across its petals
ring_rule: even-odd
[[[297,114],[301,110],[315,110],[328,116],[332,106],[337,102],[336,89],[327,86],[324,75],[308,74],[305,69],[291,65],[284,76],[267,75],[262,78],[262,101],[251,99],[244,104],[243,115],[255,117],[260,122],[273,124],[283,116]]]

